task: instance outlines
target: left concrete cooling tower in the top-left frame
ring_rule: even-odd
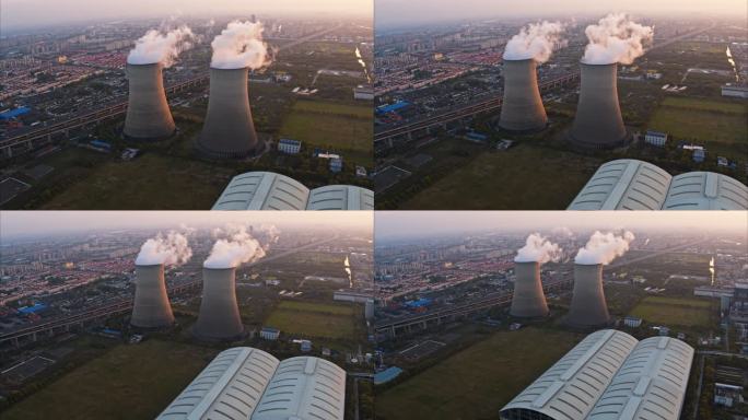
[[[162,139],[176,127],[164,93],[161,65],[127,65],[129,95],[125,136],[132,139]]]

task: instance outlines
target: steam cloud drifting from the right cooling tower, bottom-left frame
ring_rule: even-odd
[[[270,244],[278,241],[276,226],[260,226],[258,237],[247,232],[244,225],[229,224],[224,229],[213,231],[215,236],[223,236],[213,244],[210,256],[202,264],[206,268],[234,268],[239,264],[255,262],[265,257]],[[265,241],[261,241],[264,238]]]

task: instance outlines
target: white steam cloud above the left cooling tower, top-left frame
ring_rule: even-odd
[[[130,65],[152,65],[161,62],[164,67],[172,67],[179,52],[192,47],[195,39],[192,31],[188,26],[179,26],[176,30],[162,32],[151,30],[140,39],[127,56]]]

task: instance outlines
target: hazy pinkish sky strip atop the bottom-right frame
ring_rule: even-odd
[[[479,230],[671,229],[746,232],[746,211],[377,211],[376,240]]]

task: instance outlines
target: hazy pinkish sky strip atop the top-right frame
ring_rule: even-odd
[[[747,16],[746,0],[375,0],[377,30],[469,19],[699,13]],[[744,18],[745,19],[745,18]]]

